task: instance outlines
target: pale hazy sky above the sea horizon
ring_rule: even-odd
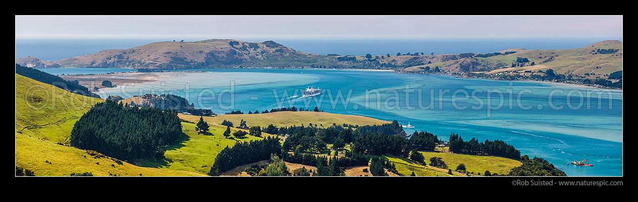
[[[15,16],[15,37],[459,39],[610,37],[622,16]]]

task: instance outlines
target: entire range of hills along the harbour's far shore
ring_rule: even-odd
[[[600,41],[583,48],[526,50],[511,48],[494,53],[397,53],[395,55],[316,55],[293,50],[274,41],[251,43],[234,39],[193,42],[164,41],[122,50],[63,58],[56,61],[17,58],[16,64],[35,68],[111,67],[131,69],[204,69],[278,67],[321,69],[392,69],[406,73],[520,74],[553,69],[583,79],[604,78],[622,70],[623,43]],[[542,76],[542,75],[541,75]]]

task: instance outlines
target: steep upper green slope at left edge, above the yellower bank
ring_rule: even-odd
[[[15,130],[51,142],[68,144],[75,121],[103,101],[19,74],[15,74],[15,83]]]

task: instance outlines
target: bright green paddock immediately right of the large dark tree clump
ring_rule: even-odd
[[[170,170],[182,170],[207,174],[215,162],[217,154],[222,149],[232,147],[235,141],[261,140],[260,137],[246,135],[242,138],[225,138],[223,133],[226,126],[211,124],[210,134],[201,134],[195,131],[195,124],[182,122],[182,131],[185,136],[178,144],[167,148],[165,159],[152,159],[141,161],[140,166],[152,168],[165,168]],[[230,128],[231,131],[241,129]],[[266,135],[265,133],[263,133]]]

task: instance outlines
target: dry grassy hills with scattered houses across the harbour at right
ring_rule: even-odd
[[[505,54],[507,51],[514,53]],[[433,56],[401,56],[403,60],[415,60],[418,65],[401,72],[427,72],[438,67],[441,72],[452,74],[486,73],[529,74],[538,70],[553,69],[558,74],[572,74],[583,78],[606,78],[623,69],[623,43],[617,40],[600,41],[583,48],[563,50],[503,50],[500,55],[463,53],[454,60],[440,60]],[[487,56],[487,57],[486,57]],[[607,76],[605,76],[607,75]]]

